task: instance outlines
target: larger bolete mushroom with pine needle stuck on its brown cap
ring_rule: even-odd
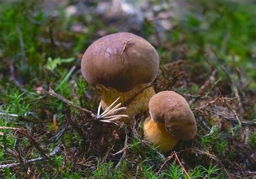
[[[81,69],[85,80],[99,89],[105,110],[118,97],[125,103],[149,85],[157,76],[159,56],[145,39],[128,32],[113,33],[86,49]],[[132,117],[146,111],[154,94],[152,87],[145,89],[123,113]]]

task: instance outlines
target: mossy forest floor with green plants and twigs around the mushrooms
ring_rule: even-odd
[[[100,37],[98,30],[109,34],[117,29],[98,16],[68,17],[67,5],[56,6],[58,13],[52,15],[42,2],[2,2],[0,166],[20,164],[0,167],[0,176],[188,178],[181,166],[191,178],[255,175],[256,4],[188,4],[181,17],[170,19],[172,29],[156,46],[168,82],[154,88],[183,95],[198,124],[196,138],[179,141],[173,150],[180,164],[174,153],[162,154],[143,140],[145,114],[126,127],[100,123],[48,93],[51,87],[96,113],[97,90],[80,74],[80,60]],[[76,24],[86,32],[73,31]],[[156,33],[154,23],[145,20],[139,35],[150,40]],[[39,157],[43,159],[24,163]]]

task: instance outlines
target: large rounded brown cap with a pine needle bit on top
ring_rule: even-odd
[[[81,69],[90,84],[102,84],[125,92],[156,78],[159,56],[145,39],[119,32],[93,42],[83,55]]]

